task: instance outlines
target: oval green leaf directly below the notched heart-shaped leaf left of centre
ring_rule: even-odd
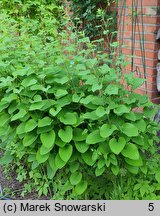
[[[73,147],[70,144],[65,145],[63,148],[59,148],[59,156],[65,162],[67,162],[73,152]]]

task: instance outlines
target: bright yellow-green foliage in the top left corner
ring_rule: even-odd
[[[62,0],[0,0],[0,11],[14,18],[19,28],[52,35],[65,24]],[[25,24],[24,24],[25,22]]]

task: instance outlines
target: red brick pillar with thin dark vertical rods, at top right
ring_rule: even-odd
[[[125,72],[136,71],[139,77],[146,77],[146,85],[137,92],[147,93],[153,102],[159,103],[156,65],[160,42],[156,41],[156,33],[160,28],[160,0],[120,0],[118,20],[119,42],[125,45],[122,53],[134,55],[127,57],[130,65]]]

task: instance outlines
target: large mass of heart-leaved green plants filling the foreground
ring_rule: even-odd
[[[31,14],[43,5],[45,19],[37,6],[31,16],[17,2]],[[24,197],[34,189],[49,199],[160,199],[158,107],[134,92],[144,80],[123,75],[127,62],[117,42],[109,53],[99,51],[102,40],[90,40],[72,20],[62,29],[59,14],[47,9],[52,1],[26,2],[13,1],[10,13],[0,1],[5,173],[16,170]],[[62,16],[62,7],[56,11]]]

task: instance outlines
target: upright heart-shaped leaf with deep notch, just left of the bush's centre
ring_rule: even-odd
[[[58,131],[58,136],[61,138],[61,140],[65,143],[69,143],[72,140],[73,137],[73,129],[70,126],[66,126],[63,129],[60,129]]]

